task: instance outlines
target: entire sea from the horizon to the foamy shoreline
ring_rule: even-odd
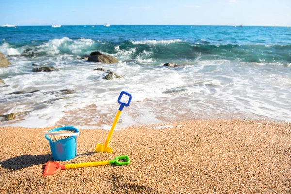
[[[121,91],[132,101],[117,129],[192,119],[291,122],[288,27],[2,27],[0,51],[11,62],[0,68],[0,115],[27,111],[0,126],[108,130]],[[94,51],[119,63],[81,59]],[[32,64],[57,70],[32,72]],[[122,78],[103,79],[108,70]]]

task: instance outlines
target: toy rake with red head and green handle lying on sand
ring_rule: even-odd
[[[125,161],[118,161],[118,160],[124,160]],[[77,164],[65,164],[62,165],[58,162],[47,162],[43,176],[45,175],[52,175],[60,170],[65,169],[71,169],[71,168],[81,168],[81,167],[89,167],[89,166],[101,166],[101,165],[107,165],[107,164],[115,164],[117,166],[127,165],[130,163],[130,159],[128,156],[117,156],[114,160],[109,161],[100,161],[100,162],[87,162],[87,163],[77,163]]]

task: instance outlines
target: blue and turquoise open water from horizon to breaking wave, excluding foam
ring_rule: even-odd
[[[291,30],[291,29],[290,29]],[[109,54],[117,53],[115,47],[123,51],[135,48],[132,59],[144,51],[152,52],[148,58],[158,61],[203,59],[227,59],[243,62],[291,63],[291,31],[286,27],[232,27],[232,26],[32,26],[0,28],[0,44],[9,43],[10,47],[21,50],[47,52],[35,48],[52,39],[68,37],[59,46],[60,54],[88,54],[100,50]],[[74,40],[91,39],[94,41],[81,52],[70,49]],[[172,44],[156,45],[142,41],[180,40]],[[154,43],[154,42],[152,42]],[[23,48],[24,47],[24,48]],[[43,51],[43,52],[42,52]],[[75,51],[75,52],[74,52]],[[9,53],[7,53],[9,54]],[[13,53],[10,53],[13,54]]]

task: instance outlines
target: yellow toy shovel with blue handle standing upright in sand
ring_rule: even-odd
[[[124,103],[124,102],[121,102],[121,101],[120,101],[121,98],[122,98],[122,95],[127,95],[127,96],[129,96],[129,100],[128,100],[127,103]],[[111,147],[109,147],[108,144],[109,144],[109,142],[110,142],[111,136],[112,136],[112,134],[113,134],[113,131],[114,131],[114,129],[115,129],[115,126],[116,126],[116,124],[117,124],[117,121],[118,121],[118,119],[119,119],[119,116],[120,116],[120,114],[121,114],[123,108],[124,108],[125,106],[129,106],[129,104],[130,104],[130,102],[131,102],[131,99],[132,99],[131,94],[129,94],[129,93],[127,93],[127,92],[124,92],[124,91],[122,91],[122,92],[120,93],[120,95],[119,95],[119,97],[118,97],[118,100],[117,100],[117,102],[120,104],[120,107],[119,107],[119,110],[118,110],[118,112],[117,112],[117,114],[116,114],[116,116],[115,116],[114,122],[113,122],[113,124],[112,124],[112,127],[111,127],[109,133],[108,133],[108,136],[107,136],[107,138],[106,138],[106,140],[105,140],[105,143],[104,143],[104,144],[97,144],[97,146],[96,146],[94,152],[108,152],[108,153],[111,153],[111,152],[112,152],[113,149],[112,149]]]

